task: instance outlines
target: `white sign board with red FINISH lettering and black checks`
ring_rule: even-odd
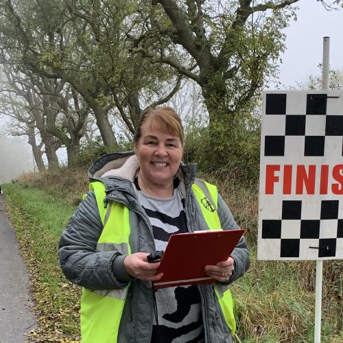
[[[263,93],[258,258],[343,258],[343,93]]]

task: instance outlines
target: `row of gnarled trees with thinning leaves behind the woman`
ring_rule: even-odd
[[[1,112],[40,170],[42,154],[58,167],[62,146],[71,167],[82,142],[97,135],[120,148],[143,109],[172,102],[191,80],[204,104],[197,117],[209,115],[204,166],[241,167],[242,154],[251,165],[253,109],[297,1],[0,0]]]

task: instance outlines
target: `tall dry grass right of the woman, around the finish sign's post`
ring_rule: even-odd
[[[234,174],[203,176],[217,185],[252,251],[249,272],[233,285],[244,342],[311,342],[314,331],[315,261],[256,261],[257,183],[244,186]],[[322,342],[343,342],[342,261],[324,261]],[[330,323],[330,324],[328,324]],[[277,338],[277,339],[276,339]]]

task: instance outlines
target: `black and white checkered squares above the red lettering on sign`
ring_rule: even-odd
[[[303,113],[293,109],[299,106],[293,104],[294,99],[289,99],[287,93],[269,93],[265,96],[265,115],[268,116],[271,130],[266,130],[264,136],[264,156],[291,154],[287,148],[292,150],[294,137],[303,137],[299,140],[299,144],[303,145],[300,151],[303,156],[325,156],[326,143],[330,145],[328,141],[331,137],[340,137],[337,150],[343,156],[343,114],[327,113],[327,93],[307,94]],[[268,131],[277,134],[269,134]]]

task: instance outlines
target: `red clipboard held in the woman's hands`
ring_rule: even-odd
[[[164,275],[154,282],[154,289],[215,282],[204,272],[205,265],[228,259],[244,232],[209,230],[171,235],[157,270]]]

